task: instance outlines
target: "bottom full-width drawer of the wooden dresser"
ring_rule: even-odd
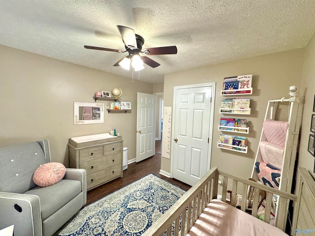
[[[122,165],[118,164],[110,168],[87,175],[87,190],[104,184],[122,175]]]

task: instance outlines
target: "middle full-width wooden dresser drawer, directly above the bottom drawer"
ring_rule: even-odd
[[[115,166],[117,164],[121,165],[122,163],[122,154],[115,153],[109,156],[103,156],[97,159],[85,161],[80,163],[80,168],[87,171],[87,175],[94,172],[103,170]]]

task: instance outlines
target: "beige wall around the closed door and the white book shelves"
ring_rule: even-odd
[[[211,167],[217,166],[224,172],[248,178],[252,173],[267,101],[288,97],[291,85],[300,89],[303,56],[304,49],[297,49],[167,74],[164,77],[164,106],[173,107],[175,86],[216,82]],[[248,138],[249,151],[243,154],[217,148],[217,142],[222,133],[218,130],[219,120],[221,117],[229,117],[219,113],[221,100],[225,98],[220,95],[223,78],[246,74],[253,75],[253,94],[248,95],[252,99],[251,115],[244,116],[250,121],[250,133],[243,135]],[[282,114],[282,117],[286,116],[286,110],[282,109]],[[161,170],[170,173],[169,159],[162,158]]]

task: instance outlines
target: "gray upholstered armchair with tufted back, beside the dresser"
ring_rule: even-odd
[[[48,187],[33,182],[34,171],[50,161],[48,140],[0,148],[0,229],[14,225],[14,236],[51,236],[86,204],[83,169],[66,169]]]

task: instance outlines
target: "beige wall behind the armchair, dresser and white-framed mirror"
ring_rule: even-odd
[[[119,69],[119,68],[118,68]],[[0,45],[0,147],[48,139],[52,161],[68,166],[68,139],[116,128],[136,151],[137,92],[152,94],[152,84]],[[123,90],[131,113],[104,113],[104,123],[73,125],[73,102],[94,102],[97,90]],[[99,101],[105,103],[106,101]]]

